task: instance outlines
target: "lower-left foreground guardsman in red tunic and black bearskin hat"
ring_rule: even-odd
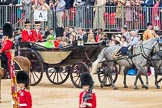
[[[18,103],[19,108],[32,108],[32,97],[26,87],[29,85],[29,75],[25,71],[19,71],[16,75],[18,83]]]

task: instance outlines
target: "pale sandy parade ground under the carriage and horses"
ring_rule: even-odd
[[[123,88],[123,76],[119,75],[116,85],[118,90],[110,87],[100,88],[95,76],[94,92],[97,96],[97,108],[162,108],[162,89],[156,89],[154,77],[149,77],[149,89],[133,89],[135,77],[128,76],[129,88]],[[145,77],[143,77],[145,79]],[[162,88],[162,83],[159,84]],[[79,93],[70,78],[62,85],[51,84],[44,74],[40,84],[31,87],[33,108],[78,108]],[[2,80],[2,100],[0,108],[12,108],[10,80]]]

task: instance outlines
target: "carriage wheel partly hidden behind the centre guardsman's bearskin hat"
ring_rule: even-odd
[[[81,88],[80,74],[83,72],[89,72],[88,66],[84,62],[76,62],[72,65],[70,72],[70,78],[73,85],[77,88]]]

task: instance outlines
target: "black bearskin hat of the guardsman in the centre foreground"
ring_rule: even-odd
[[[81,86],[89,85],[92,86],[93,80],[89,72],[84,72],[80,76]]]

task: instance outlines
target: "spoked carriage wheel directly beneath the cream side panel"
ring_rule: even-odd
[[[54,67],[46,71],[47,78],[53,84],[63,84],[70,75],[70,67]]]

